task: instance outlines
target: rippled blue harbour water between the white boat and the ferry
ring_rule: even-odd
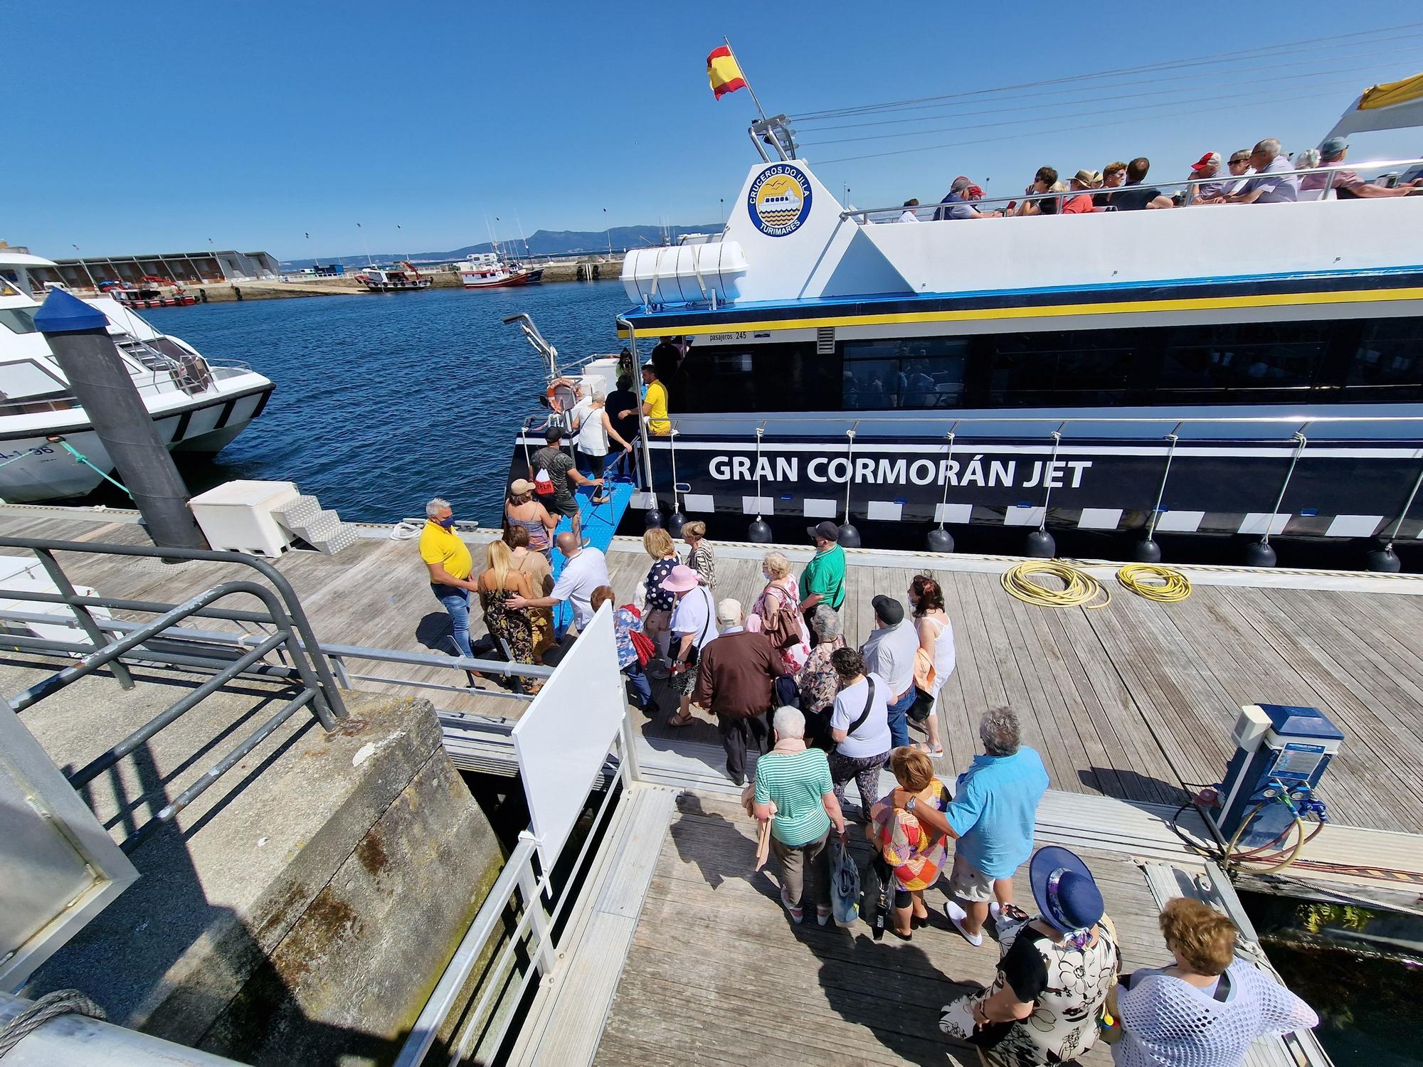
[[[539,411],[542,361],[501,320],[527,313],[565,363],[618,351],[618,282],[522,289],[245,300],[144,314],[211,359],[276,383],[266,411],[215,461],[189,464],[198,492],[232,478],[295,481],[342,518],[396,522],[431,497],[498,521],[514,432]]]

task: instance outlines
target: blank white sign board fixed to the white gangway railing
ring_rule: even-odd
[[[605,603],[514,727],[514,751],[545,871],[554,868],[583,811],[625,714],[613,606]]]

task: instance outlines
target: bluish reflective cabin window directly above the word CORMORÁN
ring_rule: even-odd
[[[847,411],[949,408],[963,396],[966,337],[845,341],[842,400]]]

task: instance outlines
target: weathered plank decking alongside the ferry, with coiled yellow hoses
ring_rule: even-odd
[[[120,521],[114,521],[118,518]],[[0,511],[0,535],[145,542],[122,516],[44,509]],[[793,562],[808,551],[791,551]],[[761,588],[760,546],[719,546],[716,595],[748,606]],[[164,565],[155,559],[65,556],[75,582],[107,596],[179,602],[250,569],[226,563]],[[628,600],[650,561],[619,538],[609,569]],[[339,644],[453,653],[448,622],[430,595],[413,542],[363,538],[337,556],[290,552],[276,561],[296,588],[317,636]],[[1101,610],[1043,609],[999,588],[1002,565],[956,558],[852,552],[842,610],[847,640],[869,627],[869,598],[904,596],[919,570],[945,590],[955,627],[958,669],[943,687],[941,773],[962,770],[978,753],[976,720],[990,706],[1017,710],[1029,744],[1047,765],[1053,788],[1127,801],[1178,804],[1183,784],[1212,782],[1231,754],[1229,731],[1241,704],[1311,704],[1345,731],[1325,781],[1335,822],[1423,834],[1423,580],[1358,576],[1343,585],[1397,590],[1358,592],[1190,569],[1191,599],[1160,605],[1118,590]],[[1316,582],[1319,585],[1321,582]],[[1328,585],[1328,582],[1323,582]],[[1336,582],[1338,585],[1338,582]],[[478,613],[471,620],[482,633]],[[203,622],[209,629],[221,623]],[[371,664],[353,669],[458,686],[438,667]],[[361,687],[411,691],[400,684]],[[514,717],[522,703],[458,691],[433,694],[448,711]],[[672,703],[643,726],[645,738],[670,750],[683,741],[716,744],[709,721],[667,730]]]

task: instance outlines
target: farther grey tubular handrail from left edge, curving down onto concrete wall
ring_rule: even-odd
[[[60,593],[14,593],[13,599],[20,600],[40,600],[40,602],[58,602],[65,603],[74,612],[75,617],[87,620],[85,629],[90,636],[95,636],[97,627],[92,630],[88,627],[94,626],[94,617],[90,615],[88,607],[102,606],[102,607],[120,607],[121,610],[137,610],[137,612],[169,612],[172,605],[155,605],[142,600],[112,600],[111,598],[84,598],[80,596],[74,586],[64,576],[63,568],[58,561],[54,559],[55,552],[80,552],[87,555],[110,555],[110,556],[142,556],[147,559],[162,559],[165,562],[174,561],[202,561],[209,563],[240,563],[242,566],[249,566],[258,573],[260,573],[272,586],[276,589],[280,603],[277,610],[285,607],[285,615],[290,619],[296,635],[300,637],[300,646],[307,649],[316,649],[320,642],[316,639],[316,632],[312,629],[310,620],[306,617],[306,612],[302,609],[302,602],[292,588],[292,583],[286,580],[275,566],[268,563],[265,559],[258,556],[243,555],[242,552],[215,552],[212,549],[199,548],[158,548],[154,545],[98,545],[87,543],[81,541],[46,541],[38,538],[0,538],[0,548],[24,548],[36,553],[40,562],[44,565],[46,570],[55,580],[60,588]],[[260,588],[260,586],[259,586]],[[268,590],[263,590],[268,593]],[[259,612],[232,612],[231,609],[213,609],[209,605],[198,605],[198,609],[189,612],[189,615],[209,615],[213,617],[228,617],[242,622],[272,622],[273,615],[270,609],[273,606],[268,596],[258,595],[259,599],[269,607],[269,615],[263,616]],[[145,606],[147,605],[147,606]],[[221,612],[221,613],[219,613]],[[339,687],[336,686],[336,679],[332,676],[330,664],[326,662],[324,656],[312,656],[312,666],[316,671],[317,679],[317,711],[323,708],[329,716],[334,718],[346,718],[346,703],[342,700]],[[124,677],[120,677],[124,681]],[[323,721],[324,724],[324,721]],[[330,727],[327,727],[330,728]]]

